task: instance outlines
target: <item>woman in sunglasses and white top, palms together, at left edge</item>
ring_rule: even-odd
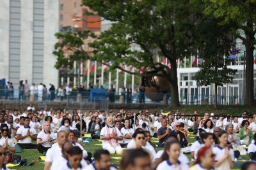
[[[0,138],[0,145],[3,146],[6,152],[14,153],[15,152],[15,145],[13,144],[13,140],[11,136],[8,134],[8,125],[1,124],[1,138]]]

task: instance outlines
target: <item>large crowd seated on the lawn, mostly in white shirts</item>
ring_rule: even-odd
[[[242,169],[256,169],[256,114],[246,111],[237,118],[214,113],[201,117],[197,111],[189,116],[179,110],[70,113],[28,106],[23,113],[0,110],[0,129],[2,167],[13,161],[10,157],[17,142],[20,148],[37,149],[45,155],[44,169],[231,169],[243,145],[248,146],[252,161]],[[191,146],[186,129],[197,138]],[[102,141],[102,150],[94,155],[83,146],[86,132]],[[111,163],[113,153],[122,154],[117,165]],[[191,160],[184,153],[190,153]]]

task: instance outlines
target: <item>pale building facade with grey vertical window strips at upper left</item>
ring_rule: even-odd
[[[58,85],[56,57],[59,2],[52,0],[10,0],[0,6],[0,79],[29,84]]]

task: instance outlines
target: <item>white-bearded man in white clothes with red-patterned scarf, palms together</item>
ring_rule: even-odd
[[[123,149],[118,143],[121,141],[123,136],[119,129],[115,127],[113,118],[107,118],[107,125],[100,131],[100,140],[102,140],[102,148],[108,150],[110,153],[123,153]]]

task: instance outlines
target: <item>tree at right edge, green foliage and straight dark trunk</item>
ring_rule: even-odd
[[[253,50],[255,50],[256,1],[205,0],[205,13],[220,19],[220,25],[228,25],[229,31],[243,41],[246,49],[245,104],[253,105]]]

